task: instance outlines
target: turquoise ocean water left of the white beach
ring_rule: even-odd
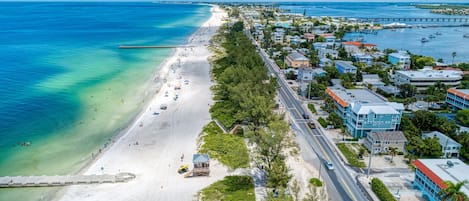
[[[0,2],[0,176],[78,171],[156,91],[152,76],[210,7]],[[29,144],[29,146],[24,146]],[[0,189],[0,200],[50,190]]]

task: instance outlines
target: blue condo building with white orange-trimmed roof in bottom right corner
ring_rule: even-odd
[[[428,201],[441,201],[438,192],[447,187],[446,181],[454,184],[469,181],[469,166],[459,159],[417,159],[414,166],[413,186]],[[462,186],[460,191],[469,195],[469,184]]]

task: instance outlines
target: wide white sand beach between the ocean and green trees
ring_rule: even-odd
[[[84,172],[130,172],[137,178],[128,183],[71,186],[61,193],[60,200],[192,200],[199,190],[227,175],[226,168],[213,161],[210,177],[183,178],[177,173],[182,164],[192,168],[197,136],[210,121],[207,45],[225,16],[217,6],[212,7],[212,17],[189,39],[189,45],[195,47],[176,50],[162,64],[156,79],[166,79],[167,83],[145,112]],[[184,80],[189,80],[189,84]],[[180,90],[174,89],[177,83]],[[174,100],[176,94],[179,98]],[[160,110],[161,104],[167,104],[168,109]],[[184,162],[180,160],[181,154],[185,156]]]

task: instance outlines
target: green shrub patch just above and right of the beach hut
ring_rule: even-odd
[[[209,154],[231,169],[249,167],[249,154],[242,137],[224,134],[215,122],[210,122],[203,131],[200,153]]]

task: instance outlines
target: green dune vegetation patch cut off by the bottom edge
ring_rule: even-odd
[[[254,182],[250,176],[226,176],[201,193],[204,201],[255,201]]]

